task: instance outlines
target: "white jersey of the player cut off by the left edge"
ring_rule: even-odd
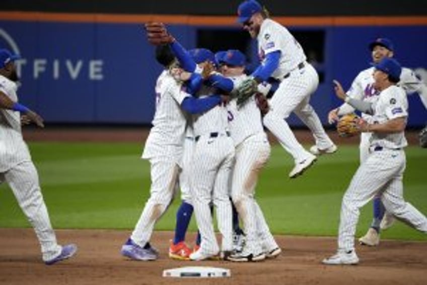
[[[0,91],[17,102],[17,85],[0,75]],[[21,133],[21,119],[18,111],[0,109],[0,172],[5,172],[22,161],[31,160],[27,144]]]

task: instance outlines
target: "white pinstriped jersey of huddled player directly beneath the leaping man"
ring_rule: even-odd
[[[239,86],[246,78],[247,75],[245,74],[238,77],[230,77],[234,82],[234,86]],[[234,145],[239,145],[244,139],[251,135],[264,132],[261,113],[256,105],[254,96],[248,99],[239,109],[236,100],[231,100],[229,104],[227,104],[227,110],[230,133]]]

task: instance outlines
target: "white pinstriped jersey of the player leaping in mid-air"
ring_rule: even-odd
[[[273,20],[265,19],[262,22],[257,39],[261,60],[264,60],[267,53],[281,51],[279,66],[271,77],[282,79],[307,59],[303,48],[288,29]]]

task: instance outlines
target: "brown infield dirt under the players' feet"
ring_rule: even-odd
[[[76,243],[75,257],[46,266],[32,229],[0,229],[0,284],[425,284],[427,243],[382,241],[357,246],[361,263],[327,266],[321,260],[334,253],[335,238],[277,236],[283,252],[256,263],[176,261],[168,258],[172,232],[155,232],[157,261],[132,261],[120,255],[129,231],[58,230],[62,244]],[[192,241],[190,233],[187,240]],[[191,243],[190,243],[191,244]],[[164,269],[182,266],[228,268],[228,278],[162,277]]]

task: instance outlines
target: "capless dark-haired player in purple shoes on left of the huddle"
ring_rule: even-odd
[[[155,260],[159,252],[150,245],[154,225],[172,201],[187,126],[186,115],[205,112],[221,102],[221,96],[194,98],[176,81],[170,68],[176,63],[169,45],[156,48],[156,59],[166,69],[156,84],[156,112],[142,158],[151,163],[151,188],[148,199],[121,254],[134,260]]]

